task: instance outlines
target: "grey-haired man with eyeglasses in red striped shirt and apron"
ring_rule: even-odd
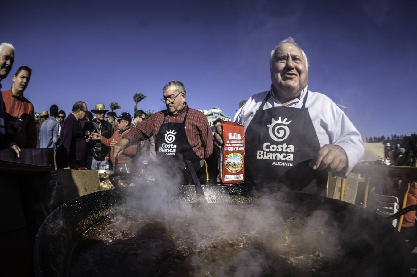
[[[176,161],[189,160],[198,175],[203,176],[203,159],[213,152],[211,129],[203,113],[188,107],[185,96],[186,90],[181,82],[171,81],[166,84],[161,99],[166,110],[140,122],[114,146],[114,154],[117,156],[126,147],[153,135],[158,163],[168,164],[170,158]],[[189,182],[190,176],[186,171],[183,173],[185,182]]]

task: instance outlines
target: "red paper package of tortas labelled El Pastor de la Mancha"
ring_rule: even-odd
[[[245,180],[245,132],[244,126],[223,122],[223,149],[219,158],[219,179],[222,184],[232,185]]]

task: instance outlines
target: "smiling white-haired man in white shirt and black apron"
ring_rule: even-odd
[[[329,97],[307,89],[307,57],[292,37],[272,50],[269,66],[271,89],[251,96],[234,117],[245,127],[246,184],[320,193],[326,171],[345,176],[361,161],[361,135]],[[217,148],[221,134],[218,126]]]

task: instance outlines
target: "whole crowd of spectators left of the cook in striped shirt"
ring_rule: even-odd
[[[0,57],[1,81],[13,67],[13,45],[0,44]],[[19,157],[21,149],[36,148],[39,140],[40,148],[53,148],[57,168],[109,169],[111,146],[143,121],[145,112],[137,110],[133,118],[127,112],[117,116],[115,112],[106,110],[104,104],[98,104],[95,109],[88,111],[87,105],[78,101],[67,117],[65,111],[52,105],[49,113],[43,111],[40,115],[38,132],[33,104],[24,96],[31,74],[29,67],[19,67],[13,75],[12,87],[0,94],[1,149],[10,148]],[[131,167],[137,153],[142,151],[141,156],[146,156],[144,146],[148,145],[141,143],[125,151],[120,162]]]

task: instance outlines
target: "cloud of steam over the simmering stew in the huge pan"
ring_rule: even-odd
[[[183,181],[181,166],[171,163],[169,168],[152,168],[156,183],[132,190],[125,205],[103,228],[91,230],[102,237],[109,252],[114,252],[111,247],[123,249],[123,262],[129,259],[131,267],[141,264],[140,275],[310,275],[311,270],[314,273],[339,257],[336,226],[328,224],[324,211],[300,221],[298,211],[280,212],[288,207],[276,201],[277,195],[257,198],[250,205],[175,201]],[[221,199],[215,193],[208,193],[207,198]],[[89,251],[102,255],[100,247]],[[176,260],[183,268],[167,259]],[[82,256],[71,267],[94,265],[91,256]]]

